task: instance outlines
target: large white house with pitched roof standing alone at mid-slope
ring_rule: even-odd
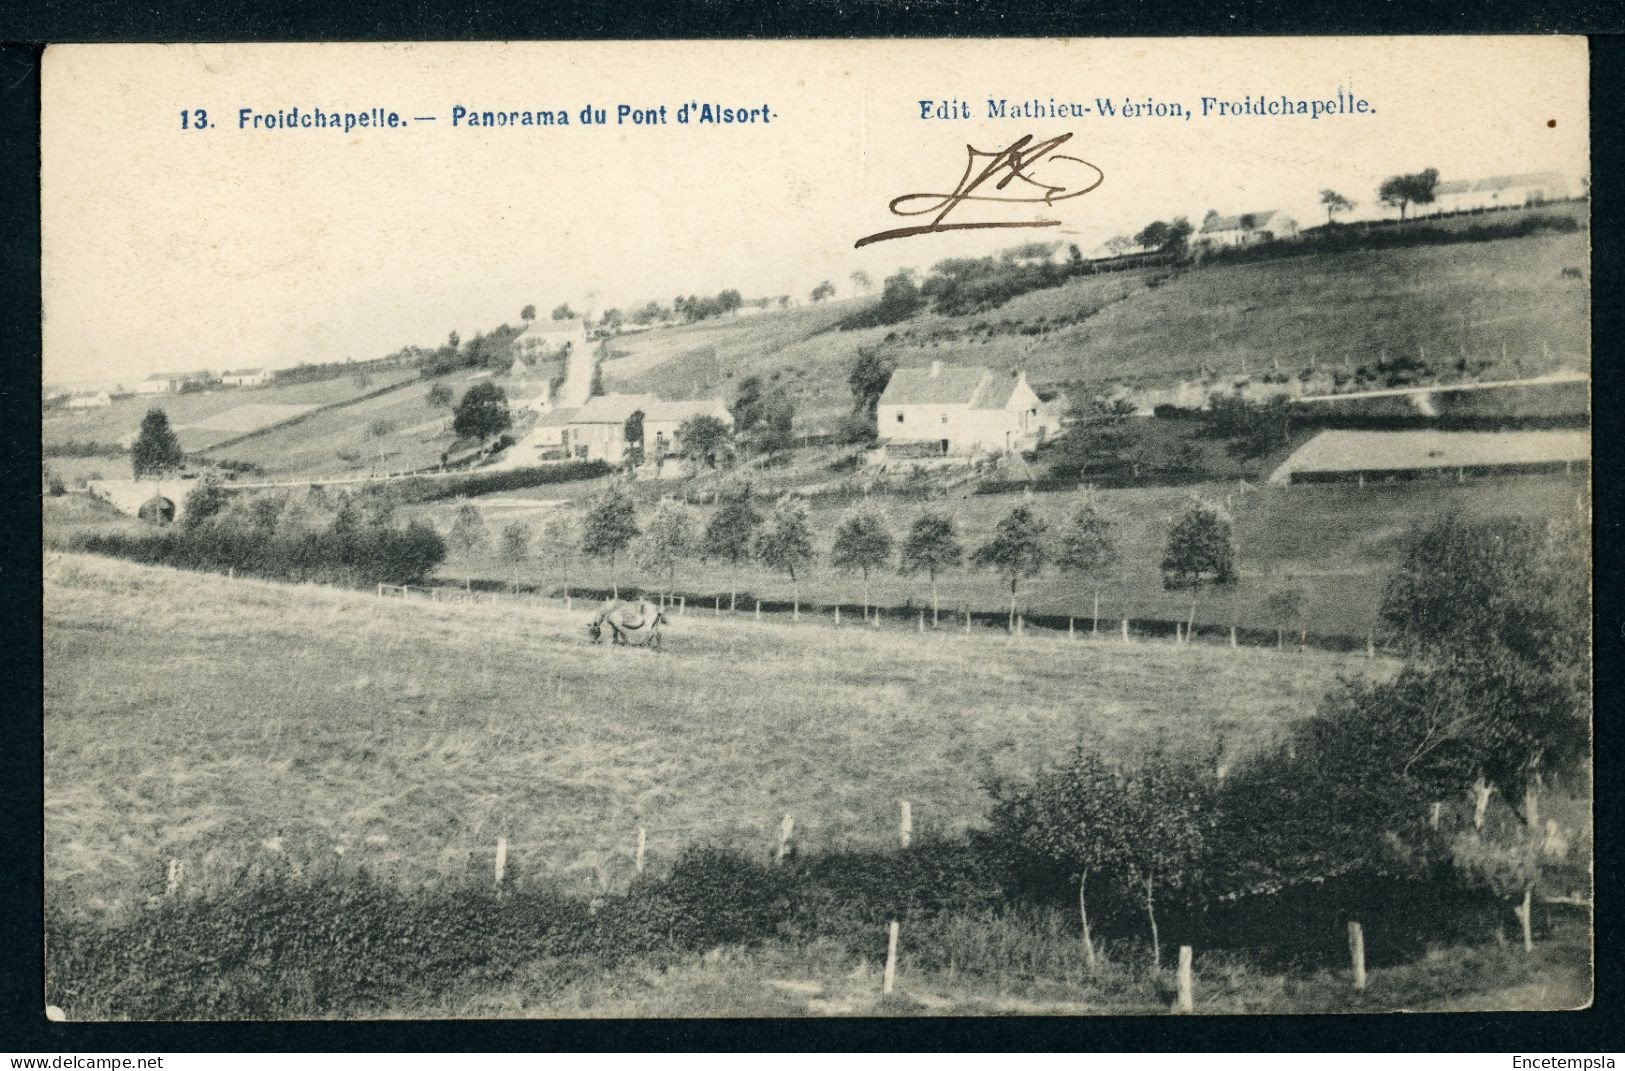
[[[930,444],[941,453],[1030,450],[1061,429],[1027,374],[985,367],[897,369],[876,410],[884,444]]]

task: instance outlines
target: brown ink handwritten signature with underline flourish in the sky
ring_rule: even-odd
[[[887,208],[894,216],[930,216],[934,213],[931,223],[912,226],[912,228],[895,228],[892,231],[878,231],[866,237],[860,237],[853,249],[863,249],[874,242],[887,242],[894,237],[910,237],[913,234],[936,234],[939,231],[975,231],[978,228],[1058,228],[1060,219],[1030,219],[1030,221],[1009,221],[1009,223],[942,223],[951,211],[959,208],[965,202],[996,202],[1004,205],[1053,205],[1055,202],[1064,202],[1071,197],[1082,197],[1105,180],[1105,172],[1090,164],[1086,159],[1076,156],[1064,156],[1055,150],[1061,148],[1072,138],[1071,133],[1063,133],[1046,141],[1034,141],[1032,135],[1024,135],[1016,143],[1006,150],[996,153],[985,153],[972,145],[965,146],[965,174],[959,177],[959,185],[954,187],[952,193],[904,193],[902,197],[894,197]],[[1076,164],[1094,174],[1089,185],[1071,189],[1066,185],[1051,185],[1035,177],[1032,172],[1040,164],[1051,164],[1056,161],[1066,161],[1066,164]],[[982,169],[978,171],[978,164]],[[1063,166],[1064,169],[1064,166]],[[1053,171],[1053,169],[1046,169]],[[993,182],[993,179],[998,179]],[[986,192],[985,185],[993,182],[991,190]],[[1019,182],[1011,193],[1004,193],[1012,182]],[[977,190],[983,190],[978,193]],[[923,206],[904,208],[904,205],[925,202]]]

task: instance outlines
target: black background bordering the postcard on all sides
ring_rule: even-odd
[[[1050,37],[1591,34],[1596,488],[1596,1003],[1581,1012],[1300,1017],[55,1024],[42,1014],[39,57],[52,41],[526,41],[655,37]],[[1622,1048],[1622,754],[1612,726],[1625,648],[1614,440],[1622,401],[1620,189],[1625,5],[1310,0],[1038,3],[37,3],[0,10],[0,1051],[1172,1050],[1607,1051]],[[1540,86],[1528,86],[1537,94]],[[1462,117],[1471,122],[1471,117]],[[1498,1061],[1487,1066],[1510,1066]],[[3,1069],[0,1069],[3,1071]]]

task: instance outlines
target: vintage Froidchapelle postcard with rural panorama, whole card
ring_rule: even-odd
[[[1588,1006],[1586,63],[49,49],[49,1016]]]

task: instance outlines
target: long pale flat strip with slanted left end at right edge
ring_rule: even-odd
[[[1584,429],[1323,431],[1282,462],[1269,483],[1571,471],[1589,462]]]

